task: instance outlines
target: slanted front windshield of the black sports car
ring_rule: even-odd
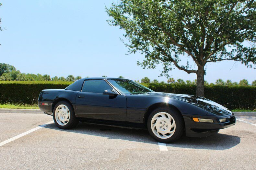
[[[122,93],[154,92],[153,90],[131,80],[109,79],[108,81]]]

